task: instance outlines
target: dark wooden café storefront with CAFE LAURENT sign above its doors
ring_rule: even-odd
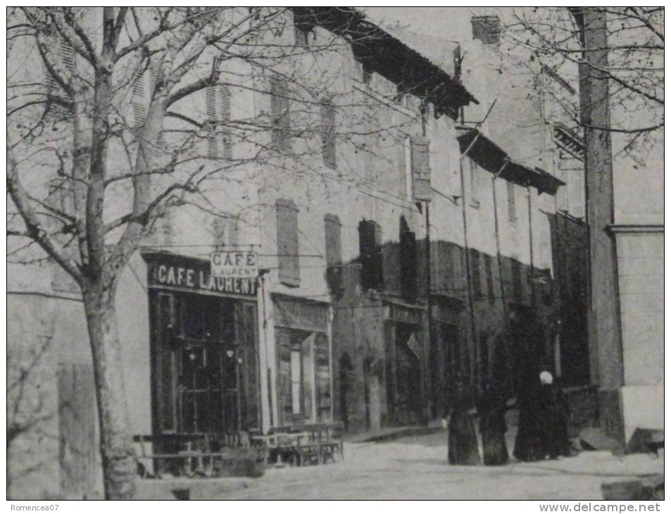
[[[213,277],[209,261],[144,253],[153,434],[261,429],[256,277]]]

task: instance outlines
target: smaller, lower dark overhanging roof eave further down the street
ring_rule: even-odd
[[[488,139],[479,130],[472,128],[459,128],[458,130],[461,132],[457,136],[461,153],[468,150],[468,157],[489,173],[499,173],[503,165],[506,164],[506,167],[498,175],[499,177],[520,186],[535,187],[539,194],[554,195],[560,186],[565,185],[565,182],[553,177],[541,168],[532,168],[514,161],[501,146]]]

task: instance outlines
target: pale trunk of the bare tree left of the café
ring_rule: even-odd
[[[94,284],[84,292],[93,354],[106,499],[132,499],[137,465],[117,335],[114,288]]]

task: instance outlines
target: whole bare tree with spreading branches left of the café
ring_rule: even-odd
[[[371,134],[405,123],[374,125],[375,102],[365,118],[359,96],[334,93],[342,70],[330,61],[322,73],[315,56],[349,43],[289,40],[287,20],[284,8],[8,11],[10,258],[54,263],[82,294],[109,499],[135,491],[115,313],[132,254],[187,203],[239,215],[211,192],[252,164],[275,180],[363,181],[346,166],[315,168],[315,154],[333,137],[370,152]],[[236,94],[268,92],[270,109],[231,115]],[[325,106],[349,121],[334,131]]]

